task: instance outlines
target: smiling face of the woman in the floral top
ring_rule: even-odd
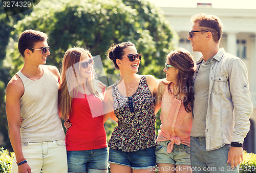
[[[129,54],[138,54],[137,49],[134,46],[129,46],[125,49],[123,49],[123,56],[122,59],[117,59],[116,62],[118,64],[118,67],[120,71],[123,71],[125,73],[132,72],[137,73],[140,60],[138,58],[135,58],[134,61],[130,61],[127,55]]]

